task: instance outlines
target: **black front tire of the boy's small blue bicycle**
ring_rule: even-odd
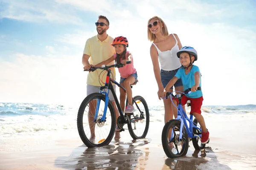
[[[189,137],[188,137],[186,128],[185,128],[185,126],[183,126],[183,145],[181,147],[180,152],[177,151],[177,146],[181,145],[182,142],[180,142],[180,144],[178,144],[177,140],[175,140],[175,139],[178,139],[179,134],[176,134],[176,132],[174,133],[174,136],[172,139],[174,139],[173,143],[176,145],[175,148],[176,148],[177,154],[175,154],[172,152],[173,148],[169,147],[168,133],[169,133],[169,130],[171,127],[176,127],[176,128],[174,128],[176,130],[176,132],[180,133],[180,121],[176,120],[176,119],[172,119],[172,120],[169,120],[168,122],[166,122],[166,124],[164,125],[163,131],[162,131],[163,150],[166,153],[166,156],[168,156],[168,158],[178,158],[181,156],[185,156],[189,149]]]

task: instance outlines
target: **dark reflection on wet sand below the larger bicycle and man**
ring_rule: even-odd
[[[137,146],[148,144],[147,140],[133,140],[131,142],[111,142],[103,147],[86,147],[84,144],[76,147],[70,156],[58,157],[55,167],[74,170],[133,170],[137,166],[138,158],[143,156],[148,160],[148,153],[137,149]],[[141,158],[140,158],[141,161]]]

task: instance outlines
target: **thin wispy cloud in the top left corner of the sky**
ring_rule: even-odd
[[[65,6],[59,6],[51,0],[3,0],[6,8],[0,13],[0,18],[10,18],[28,22],[41,23],[45,21],[55,23],[80,24],[81,19],[75,12],[68,10]]]

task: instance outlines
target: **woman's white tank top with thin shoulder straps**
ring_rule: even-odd
[[[181,66],[180,59],[177,57],[177,52],[180,50],[178,46],[178,41],[174,34],[172,34],[172,36],[175,38],[176,44],[172,47],[171,50],[160,51],[157,48],[157,45],[155,45],[154,42],[152,43],[157,48],[158,61],[160,62],[160,67],[165,71],[176,70]]]

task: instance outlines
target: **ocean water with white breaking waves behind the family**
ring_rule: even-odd
[[[38,135],[49,131],[64,131],[77,128],[78,107],[33,103],[0,103],[0,138],[15,138]],[[164,120],[163,106],[149,106],[150,121]],[[205,116],[255,116],[256,105],[202,106]],[[187,113],[189,108],[186,108]]]

